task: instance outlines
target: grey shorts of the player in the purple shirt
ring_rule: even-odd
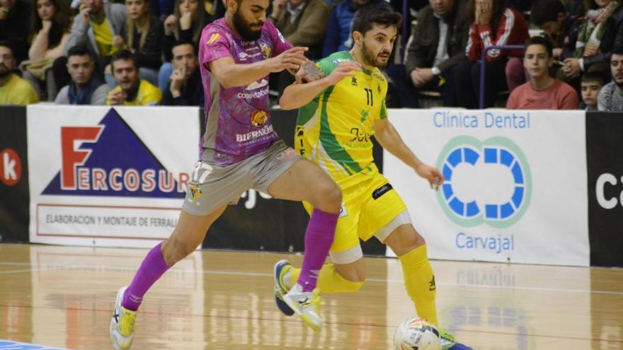
[[[301,156],[276,141],[266,151],[238,163],[222,165],[198,161],[188,182],[182,209],[189,214],[212,214],[224,204],[236,204],[247,189],[268,193],[268,186]]]

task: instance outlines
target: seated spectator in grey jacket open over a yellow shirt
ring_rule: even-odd
[[[122,4],[103,0],[81,0],[79,13],[74,17],[68,49],[86,45],[96,57],[96,74],[103,76],[103,69],[110,63],[110,57],[117,51],[113,41],[120,40],[127,13]],[[67,73],[67,57],[55,60],[54,78],[57,86],[65,86],[71,81]]]

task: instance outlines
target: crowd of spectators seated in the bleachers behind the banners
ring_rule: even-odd
[[[202,28],[226,0],[0,0],[0,105],[198,105]],[[267,21],[319,59],[384,0],[271,0]],[[392,0],[402,11],[401,0]],[[384,69],[388,107],[623,110],[622,0],[414,0]],[[532,38],[530,37],[532,33]],[[521,45],[489,49],[491,45]],[[401,55],[404,52],[404,57]],[[481,86],[481,69],[486,74]],[[270,79],[278,94],[294,81]],[[481,96],[482,95],[482,96]]]

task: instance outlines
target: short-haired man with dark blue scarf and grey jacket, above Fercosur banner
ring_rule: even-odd
[[[59,91],[57,105],[105,105],[110,87],[93,74],[95,62],[86,46],[67,52],[67,71],[72,76],[68,86]]]

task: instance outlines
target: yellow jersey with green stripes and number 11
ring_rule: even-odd
[[[338,64],[355,61],[348,51],[316,63],[325,76]],[[299,109],[295,148],[323,168],[341,187],[353,175],[375,174],[372,126],[387,117],[387,81],[379,69],[355,71]]]

